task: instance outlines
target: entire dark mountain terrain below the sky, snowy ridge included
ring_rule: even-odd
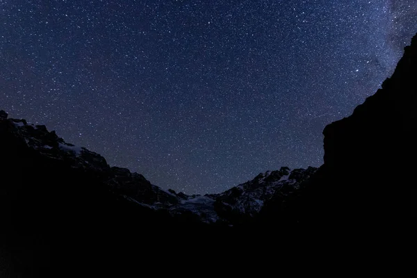
[[[190,196],[1,111],[0,277],[243,268],[320,240],[400,240],[416,216],[417,35],[382,88],[323,134],[318,169]]]

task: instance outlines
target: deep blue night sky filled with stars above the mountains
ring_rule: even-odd
[[[0,108],[162,188],[322,164],[393,72],[417,1],[0,0]]]

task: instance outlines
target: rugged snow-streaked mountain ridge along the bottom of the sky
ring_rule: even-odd
[[[8,119],[4,111],[0,112],[0,121],[6,126],[3,132],[10,133],[22,149],[98,174],[116,196],[153,211],[165,211],[173,217],[189,215],[196,222],[208,224],[233,224],[238,218],[254,218],[273,196],[291,195],[316,171],[313,167],[306,170],[281,167],[220,194],[186,195],[154,186],[142,174],[126,168],[110,167],[103,156],[65,142],[44,125]]]

